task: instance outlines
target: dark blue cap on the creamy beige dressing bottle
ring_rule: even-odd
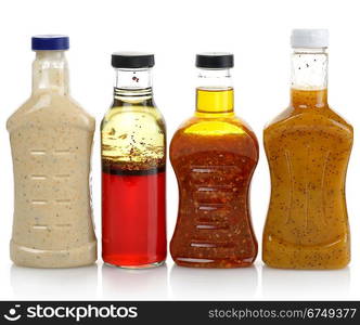
[[[68,50],[69,41],[66,35],[36,35],[31,38],[33,51]]]

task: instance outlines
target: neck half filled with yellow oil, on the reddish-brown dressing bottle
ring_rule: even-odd
[[[233,115],[234,91],[230,69],[198,69],[196,116]]]

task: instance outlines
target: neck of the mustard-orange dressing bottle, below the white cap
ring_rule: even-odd
[[[291,104],[295,108],[327,106],[326,49],[294,49]]]

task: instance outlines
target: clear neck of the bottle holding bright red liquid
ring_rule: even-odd
[[[153,98],[151,68],[115,69],[114,99],[124,103],[149,102]]]

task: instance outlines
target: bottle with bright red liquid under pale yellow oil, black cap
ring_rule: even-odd
[[[114,53],[114,102],[101,125],[102,256],[121,268],[166,259],[166,129],[153,99],[154,55]]]

